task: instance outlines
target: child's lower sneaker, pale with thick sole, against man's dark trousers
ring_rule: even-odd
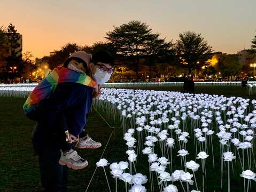
[[[80,170],[87,167],[88,162],[86,161],[86,159],[80,157],[80,155],[78,155],[75,150],[71,149],[65,154],[61,152],[59,164],[67,165],[68,168],[73,170]]]

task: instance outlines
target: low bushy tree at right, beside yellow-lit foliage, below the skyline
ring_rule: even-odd
[[[242,67],[237,55],[222,54],[219,56],[219,69],[224,77],[237,75]]]

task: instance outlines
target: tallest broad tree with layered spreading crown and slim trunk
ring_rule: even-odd
[[[129,21],[119,27],[114,26],[114,29],[108,31],[106,35],[105,38],[114,50],[118,50],[117,54],[133,60],[138,79],[139,59],[145,55],[145,47],[148,43],[156,38],[156,35],[152,34],[152,29],[141,21]]]

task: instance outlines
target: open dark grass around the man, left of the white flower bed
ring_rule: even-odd
[[[37,156],[33,155],[30,135],[35,122],[30,121],[22,111],[25,99],[0,98],[0,191],[38,191],[40,189],[40,173]],[[87,132],[103,147],[93,150],[79,150],[89,165],[86,169],[69,172],[69,190],[85,191],[96,162],[103,153],[104,146],[112,130],[96,114],[90,114]],[[115,133],[115,138],[122,138],[121,131]],[[122,139],[110,140],[103,156],[110,162],[125,161],[126,146]],[[107,171],[108,172],[108,171]],[[111,179],[110,175],[108,175]],[[114,183],[112,183],[114,186]],[[100,190],[99,190],[100,189]],[[107,191],[105,175],[102,169],[96,171],[88,191]]]

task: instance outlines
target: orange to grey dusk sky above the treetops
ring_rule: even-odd
[[[255,0],[1,0],[0,26],[13,23],[23,51],[49,55],[66,43],[105,41],[107,31],[141,20],[173,42],[187,30],[201,33],[215,51],[237,53],[256,35]]]

